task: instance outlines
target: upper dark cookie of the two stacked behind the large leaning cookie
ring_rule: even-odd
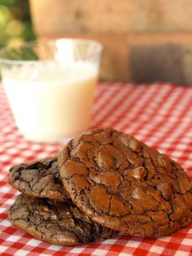
[[[59,178],[57,157],[14,166],[9,183],[28,196],[65,200],[68,194]]]

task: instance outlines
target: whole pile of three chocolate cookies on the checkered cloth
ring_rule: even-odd
[[[192,183],[175,161],[117,130],[72,139],[59,157],[15,166],[9,218],[57,245],[116,232],[157,238],[192,222]]]

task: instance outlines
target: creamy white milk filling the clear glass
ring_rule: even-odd
[[[2,83],[25,138],[55,142],[89,128],[98,70],[82,63],[20,68],[10,77],[6,74]]]

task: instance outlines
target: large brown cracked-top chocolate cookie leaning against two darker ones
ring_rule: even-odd
[[[104,227],[155,238],[192,222],[192,185],[181,166],[117,130],[72,139],[59,172],[74,204]]]

